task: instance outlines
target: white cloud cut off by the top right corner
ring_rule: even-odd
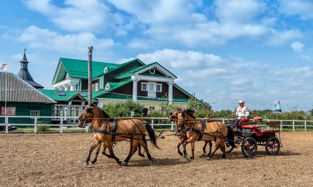
[[[279,11],[287,16],[300,15],[303,20],[313,19],[311,0],[280,0]]]

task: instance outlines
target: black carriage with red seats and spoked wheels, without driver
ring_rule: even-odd
[[[262,127],[262,120],[261,117],[254,117],[253,121],[247,118],[241,120],[238,126],[229,122],[228,135],[223,140],[226,153],[233,151],[234,146],[229,143],[233,141],[235,145],[241,147],[245,157],[253,157],[257,153],[258,146],[265,146],[265,151],[269,155],[277,155],[280,147],[283,146],[280,141],[280,122],[265,122]],[[233,136],[229,136],[230,133],[233,133]],[[230,137],[233,138],[229,139]]]

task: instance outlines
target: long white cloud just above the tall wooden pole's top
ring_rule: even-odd
[[[97,50],[118,45],[111,39],[98,39],[90,32],[61,35],[49,29],[38,28],[37,26],[29,26],[24,29],[18,39],[19,41],[29,43],[29,47],[31,48],[55,50],[70,54],[84,52],[91,45],[97,48]]]

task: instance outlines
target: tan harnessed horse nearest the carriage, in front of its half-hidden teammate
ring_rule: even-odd
[[[223,138],[227,135],[227,126],[222,122],[210,122],[205,125],[204,131],[201,132],[201,126],[199,121],[195,120],[196,118],[193,116],[195,111],[189,109],[183,109],[182,111],[178,112],[178,126],[184,126],[187,130],[187,138],[184,142],[184,145],[191,143],[191,150],[192,153],[194,152],[194,142],[199,140],[200,134],[203,134],[201,137],[201,141],[209,141],[213,138],[216,138],[215,148],[210,154],[207,159],[211,160],[214,153],[218,150],[220,146],[223,151],[223,158],[226,157],[225,153],[225,145],[223,143]],[[199,141],[200,141],[199,140]]]

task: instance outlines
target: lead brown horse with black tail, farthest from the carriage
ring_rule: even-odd
[[[109,118],[109,115],[105,113],[101,108],[96,106],[93,103],[88,103],[87,107],[83,110],[83,112],[79,116],[79,127],[85,127],[86,121],[88,118],[91,118],[92,127],[94,128],[94,137],[95,141],[93,145],[90,147],[88,156],[84,163],[84,166],[89,164],[90,155],[95,147],[100,149],[101,142],[105,143],[105,146],[109,149],[110,156],[112,156],[118,164],[127,165],[131,156],[137,151],[137,144],[139,143],[146,151],[147,157],[150,161],[154,159],[151,157],[148,145],[145,140],[145,132],[148,131],[149,137],[153,143],[153,146],[159,149],[156,145],[156,135],[151,125],[148,122],[142,122],[138,119],[133,120],[121,120],[117,122],[116,131],[113,133],[113,119],[99,119],[99,118]],[[145,127],[145,125],[146,127]],[[130,151],[127,158],[121,162],[119,158],[114,155],[112,140],[118,141],[130,141]],[[96,152],[96,155],[99,153]]]

